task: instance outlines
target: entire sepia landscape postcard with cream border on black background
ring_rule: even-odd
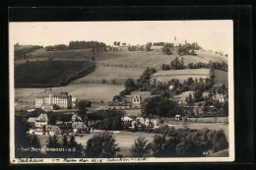
[[[10,22],[10,162],[231,162],[233,22]]]

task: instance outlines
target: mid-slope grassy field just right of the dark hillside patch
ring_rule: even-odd
[[[131,78],[137,80],[142,75],[143,70],[113,68],[113,67],[98,67],[95,72],[76,80],[74,84],[81,83],[100,83],[103,79],[106,81],[114,80],[117,84],[123,84],[126,79]]]

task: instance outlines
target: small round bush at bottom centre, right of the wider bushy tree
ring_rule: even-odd
[[[143,157],[146,154],[150,153],[150,144],[145,138],[139,137],[132,144],[131,152],[136,157]]]

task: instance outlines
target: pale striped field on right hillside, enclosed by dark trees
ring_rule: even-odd
[[[209,69],[186,69],[186,70],[170,70],[170,71],[159,71],[153,75],[153,79],[157,79],[159,82],[168,82],[171,79],[178,79],[179,82],[183,83],[184,80],[188,78],[209,78]],[[153,80],[152,79],[152,80]]]

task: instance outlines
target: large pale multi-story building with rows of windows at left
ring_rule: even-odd
[[[72,107],[72,96],[67,92],[58,94],[41,93],[35,97],[35,108],[44,108],[56,104],[59,108],[68,109]]]

